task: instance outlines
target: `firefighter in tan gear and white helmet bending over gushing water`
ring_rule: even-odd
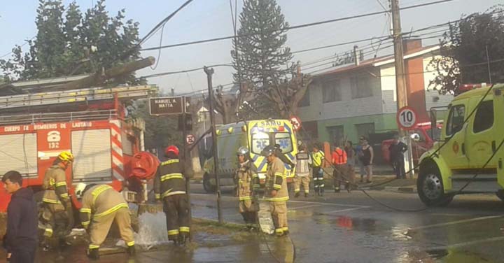
[[[87,257],[99,259],[99,246],[109,234],[112,222],[116,222],[120,236],[125,241],[127,253],[135,254],[133,229],[131,227],[130,208],[123,194],[110,185],[85,185],[76,187],[76,197],[81,199],[80,223],[90,235]]]

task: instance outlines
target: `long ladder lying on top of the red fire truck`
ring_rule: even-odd
[[[155,92],[157,92],[155,85],[142,85],[130,87],[91,87],[79,90],[20,94],[0,97],[0,111],[8,108],[114,99],[115,94],[117,94],[118,99],[139,99],[149,97]]]

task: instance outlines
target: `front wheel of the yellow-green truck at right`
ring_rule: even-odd
[[[426,206],[446,206],[453,199],[453,194],[444,194],[444,187],[439,169],[430,165],[420,173],[416,181],[419,197]]]

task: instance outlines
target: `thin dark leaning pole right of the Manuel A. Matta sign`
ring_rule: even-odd
[[[212,143],[214,148],[214,176],[216,178],[216,193],[217,193],[217,216],[219,223],[223,223],[222,218],[222,208],[221,208],[221,182],[217,175],[218,171],[218,155],[217,155],[217,134],[215,127],[215,112],[214,112],[214,87],[212,85],[212,75],[214,74],[214,69],[209,69],[207,66],[203,67],[205,73],[207,73],[207,82],[209,87],[209,111],[210,111],[210,125],[212,130]]]

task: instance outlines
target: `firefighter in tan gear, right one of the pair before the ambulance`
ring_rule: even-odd
[[[265,200],[269,201],[276,236],[288,234],[287,225],[287,180],[284,173],[285,166],[281,159],[276,157],[275,149],[266,146],[262,156],[267,158],[267,172],[265,185]]]

